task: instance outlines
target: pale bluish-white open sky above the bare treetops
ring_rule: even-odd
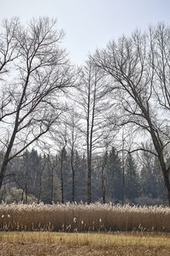
[[[19,16],[57,18],[64,29],[64,47],[71,61],[82,64],[88,53],[114,38],[146,29],[150,24],[170,24],[170,0],[3,0],[1,18]]]

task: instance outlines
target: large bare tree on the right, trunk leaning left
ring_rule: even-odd
[[[170,142],[169,37],[170,28],[163,24],[148,33],[136,31],[130,38],[123,36],[98,50],[94,62],[112,79],[120,123],[137,125],[145,136],[150,135],[155,148],[150,153],[160,161],[170,204],[170,166],[166,163]],[[133,151],[139,149],[148,150],[139,147]]]

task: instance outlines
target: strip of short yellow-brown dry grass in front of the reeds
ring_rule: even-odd
[[[0,255],[170,255],[169,233],[0,232]]]

